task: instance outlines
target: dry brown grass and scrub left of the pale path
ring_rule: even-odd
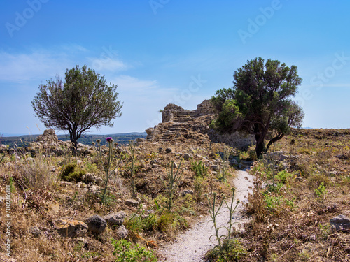
[[[172,152],[166,152],[171,147]],[[142,207],[130,207],[125,200],[132,198],[132,180],[127,162],[122,161],[118,172],[109,180],[109,191],[104,204],[96,185],[62,180],[62,172],[68,163],[76,164],[76,173],[94,173],[104,177],[96,154],[87,157],[57,157],[42,150],[35,157],[22,154],[6,154],[0,163],[0,196],[5,196],[6,185],[11,187],[11,257],[17,261],[116,261],[111,238],[118,240],[115,228],[96,235],[89,231],[83,238],[62,237],[55,230],[56,219],[84,221],[93,214],[104,217],[116,211],[125,211],[124,224],[129,231],[127,240],[155,249],[162,242],[173,240],[176,233],[188,228],[201,214],[207,214],[204,194],[216,191],[230,192],[229,184],[218,180],[219,173],[210,168],[221,166],[218,152],[224,145],[201,144],[193,140],[170,144],[144,142],[137,146],[135,187]],[[128,147],[119,147],[127,153]],[[179,189],[174,194],[174,206],[167,211],[164,180],[167,164],[174,161],[183,172]],[[197,180],[191,166],[193,162],[209,167],[207,175]],[[230,173],[234,168],[230,168]],[[100,188],[103,186],[100,184]],[[192,190],[193,194],[184,194]],[[1,198],[1,239],[5,239],[6,205]],[[136,214],[136,216],[134,216]],[[133,217],[134,216],[134,217]],[[133,218],[132,218],[133,217]],[[1,245],[0,253],[6,253]]]

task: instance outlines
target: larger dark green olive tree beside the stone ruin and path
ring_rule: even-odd
[[[212,123],[223,132],[244,131],[255,136],[255,151],[259,157],[272,143],[300,127],[304,112],[291,98],[297,93],[302,78],[297,67],[261,57],[247,61],[235,71],[234,87],[220,89],[211,98],[218,112]],[[265,138],[272,138],[265,147]]]

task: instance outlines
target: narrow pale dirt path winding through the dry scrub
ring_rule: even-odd
[[[253,186],[253,177],[249,175],[246,170],[239,170],[237,177],[233,180],[235,184],[235,200],[239,199],[241,203],[237,207],[235,214],[232,219],[234,222],[239,222],[242,224],[247,221],[244,219],[240,210],[242,210],[242,203],[245,203],[247,199],[245,196],[248,196],[248,193],[251,189],[248,187]],[[228,201],[229,203],[230,201]],[[221,210],[221,214],[217,217],[218,226],[227,226],[229,216],[228,208],[223,208]],[[200,221],[193,226],[190,230],[181,234],[176,238],[176,242],[172,245],[165,245],[160,249],[160,254],[162,254],[165,258],[160,259],[160,261],[167,262],[204,262],[202,259],[203,256],[207,253],[207,251],[217,245],[214,237],[209,240],[210,236],[214,234],[214,228],[211,228],[213,223],[211,221],[211,217],[208,214],[207,217],[203,217]],[[238,224],[236,224],[238,226]],[[220,231],[221,234],[227,233],[227,231],[223,228]]]

